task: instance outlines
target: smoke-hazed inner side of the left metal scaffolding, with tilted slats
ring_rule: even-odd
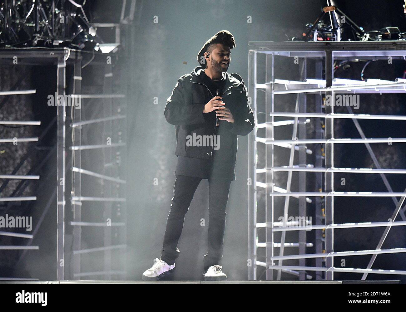
[[[117,61],[117,60],[116,60]],[[91,67],[92,64],[89,65]],[[125,155],[126,103],[125,94],[114,93],[112,62],[104,65],[96,64],[97,70],[102,70],[104,77],[102,93],[89,94],[94,88],[86,86],[84,90],[82,63],[78,60],[74,65],[74,84],[72,98],[80,99],[82,109],[71,110],[72,123],[72,153],[71,162],[71,196],[73,220],[71,278],[81,280],[123,280],[126,277],[126,222],[125,221],[125,184],[123,175]],[[89,68],[88,67],[88,68]],[[125,85],[125,84],[124,84]],[[126,93],[126,90],[123,90]],[[92,91],[93,90],[93,91]],[[86,113],[85,117],[84,112]],[[101,114],[100,114],[101,112]],[[89,116],[92,116],[89,118]],[[99,118],[94,118],[98,116]],[[93,128],[95,135],[87,135]],[[100,131],[100,133],[98,133]],[[87,137],[87,141],[84,137]],[[87,144],[86,143],[92,143]],[[98,144],[93,144],[98,143]],[[101,161],[99,172],[88,170],[95,161]],[[83,168],[84,167],[84,168]],[[84,189],[82,176],[91,177],[94,188]],[[89,182],[88,182],[89,183]],[[97,187],[100,185],[100,187]],[[93,196],[86,192],[92,190]],[[95,219],[83,221],[84,209],[99,211]],[[92,248],[84,247],[82,229],[91,228],[93,232],[103,237],[101,245]],[[102,256],[102,270],[89,271],[89,258],[84,255]],[[91,259],[91,258],[90,258]],[[92,268],[93,269],[93,268]]]

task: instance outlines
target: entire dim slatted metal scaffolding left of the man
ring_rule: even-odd
[[[56,108],[56,116],[43,130],[39,138],[17,138],[17,142],[22,144],[32,144],[39,142],[45,136],[50,135],[50,129],[56,124],[57,132],[54,133],[56,145],[50,149],[48,155],[37,164],[27,175],[18,175],[17,170],[24,163],[30,151],[13,172],[6,172],[0,175],[0,179],[6,182],[0,187],[5,187],[7,181],[11,179],[22,180],[13,192],[11,197],[0,197],[0,202],[15,201],[35,201],[37,196],[19,196],[24,191],[23,181],[41,180],[49,181],[41,187],[50,190],[45,192],[46,204],[41,207],[41,216],[35,224],[33,234],[26,235],[11,231],[1,231],[2,236],[13,236],[27,239],[26,245],[0,246],[0,250],[22,250],[19,254],[18,263],[22,261],[27,250],[38,250],[39,246],[33,246],[32,240],[38,232],[48,211],[54,211],[57,215],[56,225],[56,259],[55,271],[57,280],[80,279],[91,277],[92,279],[125,279],[126,277],[126,189],[125,180],[120,176],[125,174],[125,141],[126,141],[126,98],[127,84],[120,84],[121,90],[117,90],[114,85],[113,64],[118,57],[114,54],[92,53],[69,48],[20,48],[20,49],[0,49],[0,60],[2,64],[13,65],[13,60],[18,58],[18,65],[32,65],[41,67],[51,66],[56,70],[55,95],[61,97],[60,105]],[[110,57],[110,62],[106,58]],[[89,62],[91,59],[91,62]],[[91,77],[100,73],[104,79],[101,86],[86,85],[87,93],[82,92],[83,77],[82,71],[88,70]],[[91,70],[90,70],[91,69]],[[102,72],[100,72],[102,71]],[[117,74],[117,72],[115,73]],[[116,79],[117,80],[117,79]],[[100,80],[94,80],[99,83]],[[100,93],[94,92],[99,88]],[[90,90],[90,92],[89,92]],[[93,93],[91,93],[93,91]],[[119,92],[118,92],[119,91]],[[114,93],[117,92],[117,93]],[[9,95],[33,94],[36,90],[1,90],[2,97]],[[67,96],[70,99],[79,99],[81,107],[66,102]],[[47,105],[36,103],[36,105]],[[99,118],[82,119],[83,111],[89,116]],[[40,125],[34,120],[0,120],[1,125]],[[83,135],[95,125],[102,125],[102,131],[96,132],[95,136]],[[95,139],[93,142],[92,140]],[[0,143],[11,144],[16,138],[0,138]],[[84,145],[87,143],[88,145]],[[34,147],[32,147],[34,148]],[[85,154],[90,150],[93,154]],[[56,175],[50,173],[49,177],[39,176],[39,168],[50,161],[56,153],[57,172]],[[95,156],[95,159],[89,159]],[[97,162],[103,168],[101,172],[94,172],[88,168],[82,168],[84,160],[91,164]],[[69,175],[68,172],[71,172]],[[90,176],[93,180],[91,185],[84,185],[82,176]],[[99,187],[102,185],[102,187]],[[124,185],[124,187],[122,187]],[[82,194],[82,189],[96,189],[99,191],[93,194]],[[51,207],[56,204],[56,209]],[[82,220],[82,206],[86,209],[99,209],[100,217],[94,220]],[[100,210],[100,208],[102,210]],[[6,210],[7,212],[7,210]],[[73,216],[70,219],[71,215]],[[108,220],[108,221],[106,221]],[[102,244],[93,248],[83,248],[82,228],[94,228],[98,231],[97,238],[102,237]],[[118,250],[119,252],[112,252]],[[102,270],[83,271],[83,254],[92,254],[97,257],[103,265]],[[100,255],[100,256],[99,256]],[[114,258],[115,257],[115,258]],[[118,260],[117,260],[118,259]],[[18,264],[17,263],[17,264]],[[91,267],[91,264],[87,264]],[[22,278],[29,280],[27,278]],[[15,278],[2,278],[2,280],[15,280]],[[35,278],[33,279],[35,280]]]

